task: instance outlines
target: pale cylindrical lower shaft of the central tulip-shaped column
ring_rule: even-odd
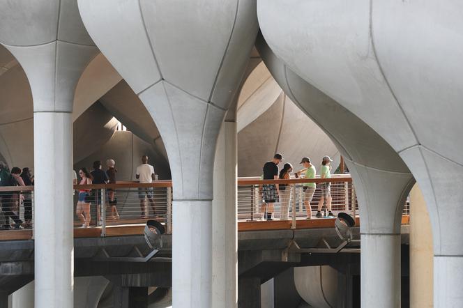
[[[211,307],[212,201],[175,201],[172,230],[172,306]]]

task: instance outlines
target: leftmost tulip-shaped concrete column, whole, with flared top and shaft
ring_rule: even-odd
[[[73,307],[71,113],[97,49],[74,0],[0,1],[0,43],[24,68],[33,97],[35,307]]]

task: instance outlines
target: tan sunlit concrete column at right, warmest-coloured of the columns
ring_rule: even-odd
[[[432,308],[432,229],[418,184],[410,192],[410,308]]]

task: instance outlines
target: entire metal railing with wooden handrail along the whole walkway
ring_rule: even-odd
[[[311,194],[308,183],[315,183]],[[331,210],[358,214],[355,187],[349,174],[333,175],[332,178],[291,178],[289,180],[260,180],[238,178],[238,221],[264,220],[264,213],[271,213],[273,220],[296,220],[315,218],[319,202],[326,194],[326,185],[331,183]],[[265,203],[268,192],[265,185],[284,185],[285,189],[275,195],[273,209]],[[281,187],[280,187],[281,188]],[[101,236],[107,236],[107,228],[145,224],[146,220],[158,220],[172,233],[172,181],[156,180],[150,184],[118,182],[102,185],[74,185],[74,226],[100,227]],[[79,190],[88,192],[84,206],[78,203]],[[310,198],[311,197],[311,198]],[[31,229],[33,226],[33,186],[0,187],[2,211],[0,229]],[[326,217],[326,196],[322,217]],[[101,206],[101,205],[105,206]],[[309,213],[308,213],[309,212]],[[82,215],[81,215],[82,213]],[[404,206],[409,214],[409,202]]]

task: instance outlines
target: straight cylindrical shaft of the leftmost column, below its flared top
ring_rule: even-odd
[[[73,132],[66,112],[34,112],[36,307],[73,307]]]

